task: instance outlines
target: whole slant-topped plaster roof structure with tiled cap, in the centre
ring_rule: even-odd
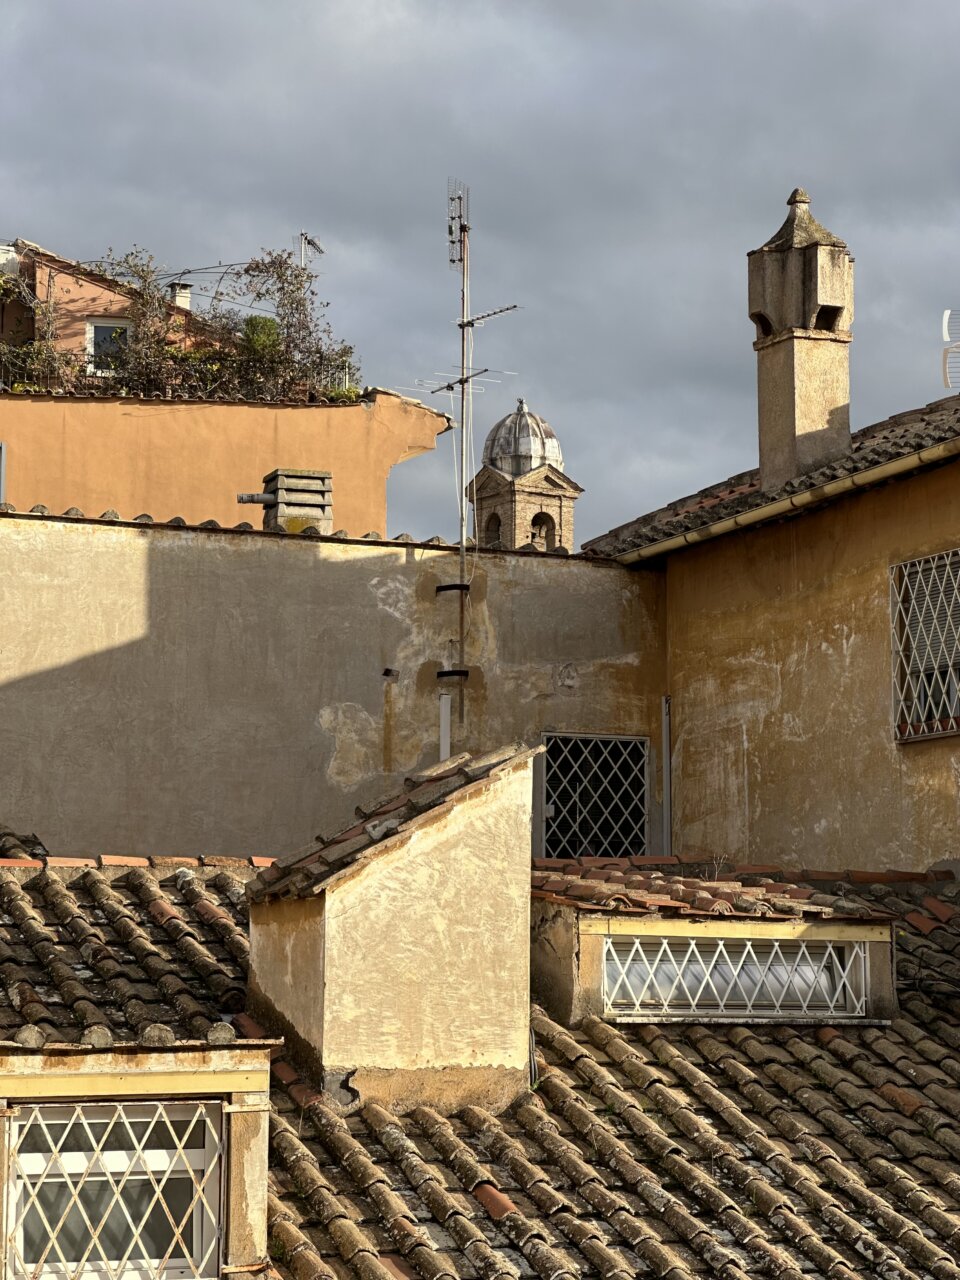
[[[248,882],[248,1006],[333,1101],[502,1111],[529,1088],[540,751],[443,760]]]

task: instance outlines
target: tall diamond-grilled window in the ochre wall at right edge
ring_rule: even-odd
[[[960,549],[895,564],[891,609],[896,737],[960,732]]]

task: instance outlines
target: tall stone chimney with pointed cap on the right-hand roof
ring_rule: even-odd
[[[854,260],[805,191],[787,205],[777,234],[748,253],[767,492],[850,452]]]

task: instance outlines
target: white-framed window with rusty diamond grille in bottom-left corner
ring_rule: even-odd
[[[211,1102],[22,1105],[10,1137],[8,1276],[216,1276],[220,1120]]]

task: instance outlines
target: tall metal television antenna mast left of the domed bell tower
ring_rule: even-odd
[[[470,312],[470,187],[460,178],[447,179],[447,250],[451,269],[460,271],[460,375],[434,387],[430,392],[449,392],[453,394],[460,389],[460,477],[457,483],[457,507],[460,511],[460,581],[451,584],[451,589],[457,591],[460,598],[460,644],[457,652],[457,667],[451,675],[456,675],[460,686],[457,719],[463,723],[463,682],[466,671],[466,598],[470,591],[467,580],[467,497],[466,474],[467,456],[471,452],[468,445],[472,442],[474,431],[474,381],[484,374],[492,372],[489,369],[476,369],[472,361],[474,329],[480,328],[484,321],[494,316],[516,311],[517,305],[508,307],[495,307],[493,311],[481,311],[479,315]],[[477,387],[476,390],[483,388]]]

